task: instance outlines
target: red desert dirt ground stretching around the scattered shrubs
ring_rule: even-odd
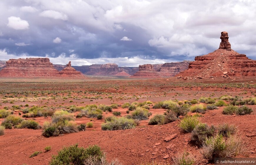
[[[0,79],[0,109],[8,107],[14,114],[22,115],[22,109],[32,106],[44,106],[53,110],[65,109],[68,106],[85,106],[88,104],[118,104],[125,102],[152,101],[149,112],[152,116],[163,114],[165,109],[152,109],[157,101],[162,100],[192,100],[200,97],[219,98],[223,95],[242,96],[243,99],[255,97],[255,79],[219,79],[219,80],[181,80],[181,79],[96,79],[86,80],[50,80],[50,79]],[[22,105],[21,109],[12,106]],[[253,113],[250,115],[224,115],[219,107],[209,110],[200,117],[200,121],[208,125],[222,123],[235,124],[239,133],[247,142],[249,157],[256,157],[256,105],[248,105]],[[128,108],[118,107],[113,111],[120,111],[125,116]],[[74,113],[76,115],[79,112]],[[112,112],[104,112],[104,117],[112,116]],[[97,120],[86,117],[77,118],[77,124],[92,121],[94,126],[72,134],[64,134],[46,138],[42,136],[42,129],[5,129],[0,136],[0,164],[48,164],[51,156],[63,146],[78,143],[87,147],[97,144],[107,154],[107,158],[118,159],[123,165],[141,165],[154,161],[172,164],[172,158],[178,153],[189,151],[196,159],[195,164],[208,164],[200,154],[200,148],[192,143],[190,133],[184,133],[178,126],[180,120],[165,125],[148,125],[144,120],[134,129],[118,131],[102,131],[104,119]],[[40,125],[51,118],[35,117]],[[0,119],[0,122],[4,119]],[[164,139],[173,134],[177,137],[169,142]],[[159,144],[160,143],[160,144]],[[51,151],[44,152],[46,146]],[[42,151],[38,156],[29,158],[34,151]],[[167,156],[169,155],[169,157]],[[164,156],[168,157],[164,159]],[[238,155],[237,157],[244,157]]]

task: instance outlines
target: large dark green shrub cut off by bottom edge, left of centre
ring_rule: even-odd
[[[88,158],[95,157],[96,160],[101,160],[103,156],[103,152],[101,151],[100,147],[97,145],[89,146],[88,148],[78,147],[78,144],[64,147],[58,152],[58,155],[52,156],[50,161],[50,165],[57,165],[57,164],[74,164],[74,165],[82,165],[88,164],[85,163]],[[93,165],[93,164],[92,164]],[[96,164],[95,164],[96,165]],[[100,163],[99,163],[100,165]]]

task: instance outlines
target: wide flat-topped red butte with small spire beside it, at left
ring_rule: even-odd
[[[70,64],[70,63],[69,63]],[[69,65],[68,64],[68,65]],[[6,61],[6,66],[1,69],[0,77],[60,77],[82,78],[81,72],[67,66],[67,69],[59,72],[53,67],[49,58],[26,58],[10,59]]]

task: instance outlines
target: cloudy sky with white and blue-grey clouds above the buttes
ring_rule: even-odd
[[[0,60],[119,66],[194,60],[219,48],[256,59],[254,0],[1,0]]]

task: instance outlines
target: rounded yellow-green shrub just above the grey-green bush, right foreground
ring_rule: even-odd
[[[179,127],[186,132],[192,132],[199,123],[198,117],[185,116],[179,123]]]

